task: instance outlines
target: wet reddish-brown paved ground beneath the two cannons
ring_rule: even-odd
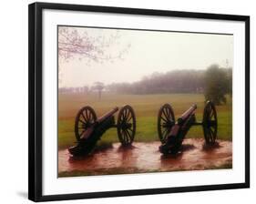
[[[232,142],[218,140],[211,148],[204,139],[188,138],[177,155],[163,156],[159,142],[134,142],[131,148],[98,150],[85,157],[72,157],[67,149],[58,151],[59,177],[122,174],[136,172],[202,170],[232,167]]]

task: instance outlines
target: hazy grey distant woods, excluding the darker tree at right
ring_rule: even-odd
[[[204,71],[175,70],[153,73],[134,83],[113,83],[108,90],[126,94],[196,93],[203,88]]]

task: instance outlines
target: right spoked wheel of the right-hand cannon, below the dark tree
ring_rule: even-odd
[[[216,108],[210,101],[204,107],[202,126],[206,144],[213,145],[217,138],[218,121]]]

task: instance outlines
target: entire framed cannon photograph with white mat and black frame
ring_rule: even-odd
[[[29,199],[250,187],[250,17],[29,5]]]

